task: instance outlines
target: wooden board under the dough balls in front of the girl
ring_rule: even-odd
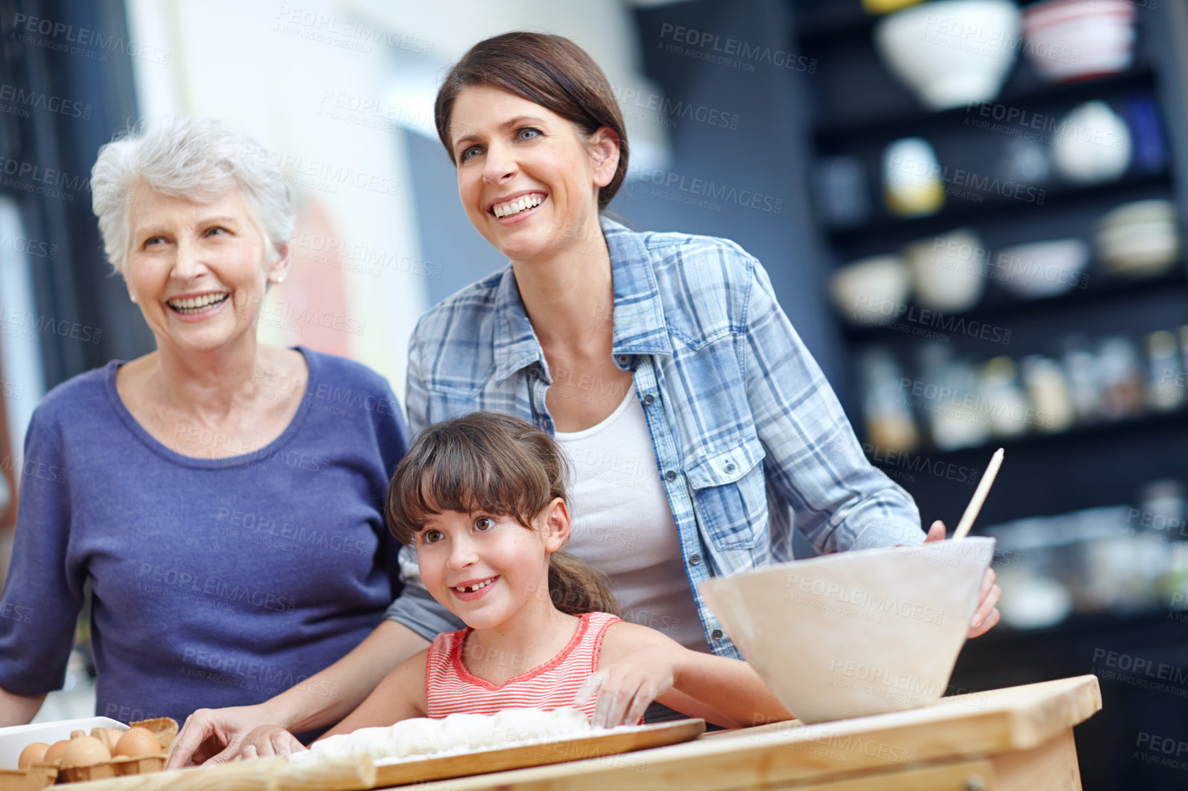
[[[407,785],[425,780],[503,772],[525,766],[563,764],[590,758],[602,758],[608,765],[627,766],[632,759],[623,753],[690,741],[704,730],[704,720],[678,720],[639,726],[618,733],[546,741],[539,745],[486,749],[442,758],[409,759],[397,764],[379,764],[375,766],[375,785]],[[309,791],[301,785],[286,785],[285,787],[291,787],[293,791]]]

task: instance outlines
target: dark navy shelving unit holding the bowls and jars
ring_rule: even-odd
[[[1184,20],[1188,14],[1181,10],[1138,8],[1135,64],[1121,74],[1054,84],[1041,78],[1019,53],[1001,91],[990,105],[1041,114],[1059,124],[1072,108],[1086,101],[1101,100],[1117,110],[1132,96],[1151,96],[1163,116],[1169,152],[1162,166],[1145,170],[1132,166],[1118,181],[1092,186],[1062,183],[1053,173],[1044,183],[1035,184],[1044,190],[1042,204],[993,192],[980,201],[947,195],[939,213],[904,219],[883,203],[881,154],[891,141],[924,138],[935,150],[941,167],[993,176],[1007,144],[1025,129],[1011,134],[975,128],[969,121],[981,118],[986,107],[981,105],[943,112],[924,109],[883,65],[873,43],[878,18],[866,14],[859,0],[789,0],[789,4],[795,19],[790,49],[817,58],[820,64],[809,88],[813,102],[805,108],[811,119],[811,131],[804,141],[805,157],[817,165],[834,157],[849,157],[865,173],[871,210],[864,220],[839,224],[830,222],[823,211],[819,217],[819,243],[834,268],[868,255],[897,253],[904,245],[956,228],[975,230],[991,254],[1012,245],[1062,238],[1079,238],[1092,246],[1095,226],[1105,213],[1146,198],[1176,203],[1184,238],[1188,114],[1183,109],[1182,61],[1188,51]],[[808,189],[816,190],[819,184],[810,183]],[[1010,343],[990,343],[952,333],[944,338],[948,347],[956,356],[971,361],[998,355],[1018,360],[1028,354],[1054,356],[1062,338],[1069,335],[1088,338],[1121,335],[1140,341],[1146,333],[1188,324],[1188,264],[1182,261],[1156,277],[1127,279],[1111,276],[1094,259],[1086,272],[1087,287],[1041,299],[1019,298],[987,279],[979,302],[953,315],[966,322],[1006,327],[1011,330]],[[922,341],[902,327],[854,325],[841,316],[838,334],[851,365],[843,404],[862,437],[857,371],[861,353],[874,346],[884,347],[901,365],[906,363],[905,375],[911,376],[912,357]],[[923,426],[923,416],[916,417]],[[927,431],[922,435],[927,437]],[[1188,483],[1188,468],[1183,464],[1183,451],[1178,450],[1186,444],[1188,404],[1174,412],[1075,425],[1059,434],[992,438],[978,448],[952,451],[929,448],[927,442],[898,456],[866,447],[872,463],[915,498],[925,525],[943,519],[952,527],[997,447],[1006,448],[1006,462],[978,520],[981,526],[1135,502],[1139,488],[1154,479],[1174,477]],[[977,473],[968,482],[961,482],[944,474],[954,468]],[[953,684],[990,689],[1095,672],[1094,648],[1159,656],[1176,666],[1188,666],[1188,650],[1182,640],[1168,639],[1164,615],[1142,612],[1075,615],[1059,627],[1036,632],[999,627],[992,635],[971,644]],[[1177,702],[1173,703],[1167,696],[1152,696],[1137,685],[1118,683],[1106,683],[1105,691],[1102,716],[1078,734],[1085,787],[1164,787],[1158,783],[1144,785],[1146,778],[1156,774],[1146,774],[1145,767],[1131,762],[1126,747],[1133,743],[1136,730],[1156,727],[1158,717],[1149,713],[1152,707],[1174,710],[1182,721],[1186,698],[1174,698]]]

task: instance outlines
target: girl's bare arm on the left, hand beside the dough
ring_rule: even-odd
[[[421,651],[400,663],[390,672],[379,686],[355,709],[350,716],[330,730],[317,738],[350,733],[359,728],[383,727],[423,717],[428,713],[425,702],[425,659],[429,650]],[[297,738],[280,726],[260,726],[253,728],[239,747],[240,758],[260,758],[264,755],[289,755],[305,749]]]

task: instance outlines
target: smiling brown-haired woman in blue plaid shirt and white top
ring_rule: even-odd
[[[602,216],[628,146],[614,91],[584,51],[542,33],[480,42],[435,110],[462,208],[510,262],[417,324],[410,425],[479,409],[552,434],[577,474],[569,550],[607,575],[627,620],[737,657],[696,586],[791,559],[794,527],[821,552],[943,538],[940,523],[925,538],[911,498],[866,461],[759,261],[725,239],[638,233]],[[998,620],[998,595],[987,576],[971,634]],[[447,615],[413,595],[388,612],[457,628]],[[388,667],[415,650],[391,641]],[[355,652],[318,679],[366,666]],[[171,761],[210,734],[234,747],[248,726],[330,724],[316,709],[196,713]],[[334,733],[384,714],[372,696]],[[274,733],[252,739],[260,754],[291,747]]]

